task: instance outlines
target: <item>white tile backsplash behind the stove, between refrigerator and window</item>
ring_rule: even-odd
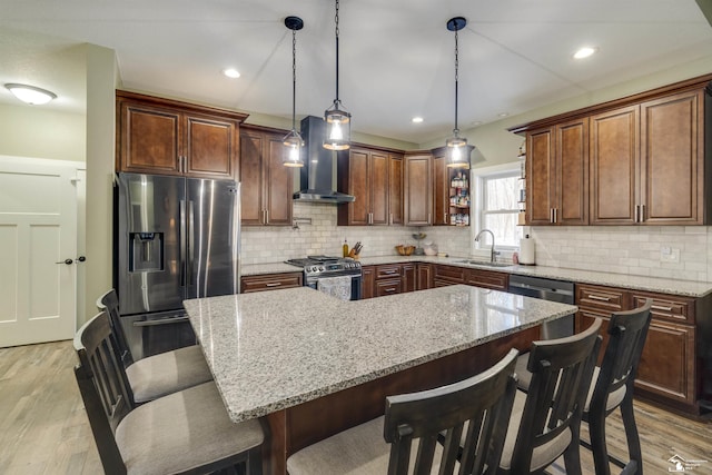
[[[294,202],[296,227],[243,226],[243,265],[275,263],[309,255],[340,256],[344,239],[349,248],[364,246],[362,257],[396,255],[398,244],[413,244],[414,232],[425,232],[439,251],[468,256],[468,227],[337,226],[333,204]],[[308,222],[310,221],[310,222]]]

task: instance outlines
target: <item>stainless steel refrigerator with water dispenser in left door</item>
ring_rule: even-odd
[[[195,344],[182,300],[239,293],[239,184],[118,174],[116,289],[135,359]]]

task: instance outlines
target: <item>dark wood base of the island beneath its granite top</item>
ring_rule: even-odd
[[[511,348],[528,349],[538,327],[524,329],[266,417],[269,451],[265,474],[286,474],[287,458],[319,441],[385,413],[387,396],[452,384],[491,367]]]

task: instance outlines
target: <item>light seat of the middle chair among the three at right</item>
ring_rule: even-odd
[[[520,431],[522,415],[524,414],[525,403],[526,395],[517,390],[516,395],[514,396],[514,407],[512,408],[512,416],[510,417],[510,425],[507,427],[507,436],[504,441],[504,449],[502,451],[502,461],[500,462],[500,466],[506,471],[512,468],[514,445],[516,443],[516,436]],[[534,452],[532,454],[532,463],[530,465],[531,471],[534,472],[538,468],[543,468],[550,465],[551,461],[558,458],[558,456],[564,453],[566,447],[568,447],[568,444],[571,444],[571,429],[566,428],[551,442],[538,447],[534,447]]]

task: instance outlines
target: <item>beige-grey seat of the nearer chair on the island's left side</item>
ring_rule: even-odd
[[[116,429],[127,474],[185,472],[237,456],[263,443],[257,419],[234,424],[215,383],[144,404]]]

